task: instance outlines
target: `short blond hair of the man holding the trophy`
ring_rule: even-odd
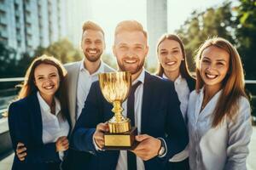
[[[142,31],[143,35],[148,39],[148,33],[143,29],[143,25],[137,20],[124,20],[119,22],[115,27],[114,37],[116,37],[121,31]]]

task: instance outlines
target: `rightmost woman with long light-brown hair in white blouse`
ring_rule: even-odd
[[[196,55],[196,88],[189,96],[190,169],[247,169],[250,111],[236,48],[220,37],[207,40]]]

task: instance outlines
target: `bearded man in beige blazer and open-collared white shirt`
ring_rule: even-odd
[[[84,108],[84,101],[89,93],[91,83],[98,80],[99,73],[114,71],[101,59],[105,49],[105,38],[104,31],[96,23],[92,21],[84,23],[81,48],[84,59],[65,65],[72,129]]]

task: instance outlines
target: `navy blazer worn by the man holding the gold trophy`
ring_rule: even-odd
[[[167,161],[188,144],[187,128],[179,109],[180,103],[173,83],[152,76],[148,72],[145,74],[141,133],[165,139],[167,152],[162,158],[155,156],[144,161],[144,165],[146,169],[166,169]],[[96,151],[92,139],[96,125],[108,121],[113,116],[112,108],[113,106],[102,96],[99,82],[94,82],[72,135],[73,146],[90,155],[80,167],[115,169],[119,151]]]

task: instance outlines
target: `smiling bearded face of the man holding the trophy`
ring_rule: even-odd
[[[113,54],[116,56],[120,71],[137,75],[143,70],[148,54],[147,38],[142,31],[120,31],[115,36]]]

